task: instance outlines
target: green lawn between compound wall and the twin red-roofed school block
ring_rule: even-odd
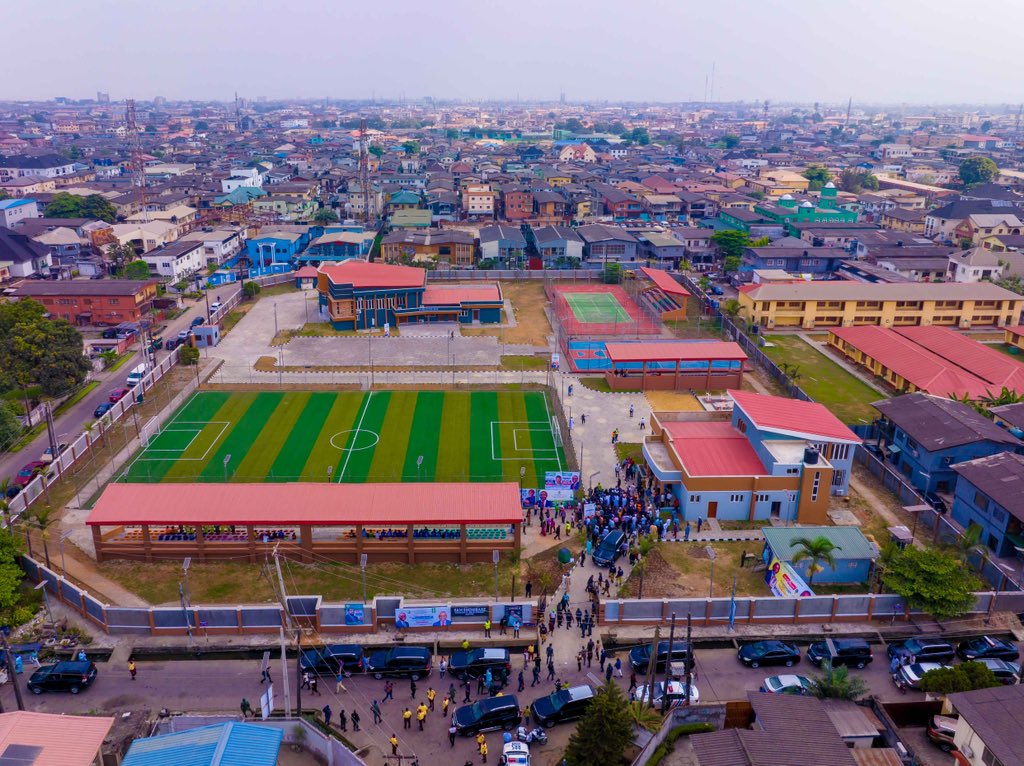
[[[772,335],[766,336],[766,340],[774,346],[765,347],[764,352],[777,365],[798,367],[797,385],[844,423],[870,423],[878,416],[871,402],[885,398],[885,394],[848,373],[814,346],[797,336]]]

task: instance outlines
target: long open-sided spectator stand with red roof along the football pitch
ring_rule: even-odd
[[[501,483],[112,483],[86,523],[96,560],[490,561],[516,550],[519,486]]]

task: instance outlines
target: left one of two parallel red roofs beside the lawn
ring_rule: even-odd
[[[983,396],[989,388],[992,388],[990,383],[962,370],[894,330],[867,326],[833,328],[829,332],[892,370],[925,393],[957,397],[966,393],[974,399]]]

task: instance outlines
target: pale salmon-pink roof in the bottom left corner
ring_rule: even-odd
[[[4,713],[0,714],[0,753],[10,744],[28,744],[42,748],[33,766],[91,766],[113,725],[113,718]]]

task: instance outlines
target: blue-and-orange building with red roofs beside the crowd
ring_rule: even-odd
[[[643,455],[681,519],[826,521],[860,439],[821,405],[729,391],[722,413],[654,413]]]

